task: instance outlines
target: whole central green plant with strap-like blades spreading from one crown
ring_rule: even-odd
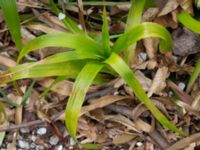
[[[59,9],[52,0],[50,0],[50,3],[54,6],[54,10],[59,13]],[[131,4],[134,5],[134,3]],[[38,62],[18,64],[0,75],[0,83],[49,76],[65,76],[66,78],[75,79],[65,110],[65,122],[70,135],[74,140],[77,140],[76,131],[79,112],[88,88],[102,72],[114,72],[112,75],[118,74],[119,77],[124,79],[136,97],[146,105],[162,125],[181,135],[186,135],[155,107],[131,68],[120,56],[128,47],[147,37],[160,38],[160,52],[171,51],[172,39],[163,26],[150,22],[136,23],[111,46],[105,9],[103,11],[101,40],[95,40],[87,33],[79,31],[74,22],[69,23],[67,21],[65,24],[70,33],[46,34],[29,41],[20,51],[17,62],[20,63],[22,58],[29,52],[44,47],[67,47],[71,50],[57,53]]]

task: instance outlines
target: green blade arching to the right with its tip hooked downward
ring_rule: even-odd
[[[112,47],[112,51],[119,53],[127,49],[130,45],[147,37],[160,38],[160,51],[166,52],[172,50],[172,38],[170,33],[161,25],[145,22],[133,27],[129,32],[118,38]]]

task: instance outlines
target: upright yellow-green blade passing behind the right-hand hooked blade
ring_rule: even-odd
[[[133,27],[141,23],[145,1],[146,0],[131,0],[131,8],[128,13],[125,32],[128,32]],[[136,44],[137,43],[133,43],[124,51],[125,60],[129,63],[129,65],[131,65],[134,61]]]

